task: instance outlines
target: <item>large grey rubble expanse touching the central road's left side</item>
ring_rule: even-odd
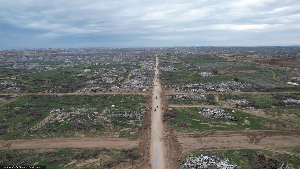
[[[133,76],[133,78],[122,83],[123,88],[121,90],[127,92],[140,92],[143,89],[148,90],[153,86],[152,73],[135,69],[131,76]]]

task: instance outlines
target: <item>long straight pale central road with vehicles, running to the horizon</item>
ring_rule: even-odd
[[[155,76],[158,73],[158,54],[156,54]],[[154,78],[152,90],[152,115],[151,115],[151,147],[150,163],[152,169],[166,169],[165,147],[163,138],[163,122],[161,110],[161,85],[157,78]],[[156,86],[155,86],[156,85]],[[155,99],[157,96],[157,99]],[[156,107],[158,106],[158,108]],[[154,111],[156,109],[156,111]]]

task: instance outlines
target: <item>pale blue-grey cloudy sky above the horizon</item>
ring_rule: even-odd
[[[0,0],[0,49],[300,45],[299,0]]]

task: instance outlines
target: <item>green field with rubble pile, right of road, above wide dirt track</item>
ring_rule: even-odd
[[[223,109],[226,110],[226,109]],[[277,124],[287,123],[284,120],[273,120],[269,118],[259,117],[250,113],[236,111],[234,113],[226,110],[229,116],[238,118],[239,121],[230,121],[229,119],[211,119],[203,117],[196,107],[191,108],[173,108],[173,111],[179,114],[174,117],[175,121],[169,121],[174,130],[177,132],[192,132],[192,131],[206,131],[213,129],[228,129],[228,130],[263,130],[277,128]],[[246,121],[247,120],[247,121]],[[187,128],[179,127],[177,123],[183,121],[187,124]],[[294,126],[294,123],[289,123]],[[274,127],[272,127],[274,126]]]

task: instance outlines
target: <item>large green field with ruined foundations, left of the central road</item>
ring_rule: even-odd
[[[137,137],[138,126],[122,123],[120,121],[124,119],[118,121],[113,117],[108,118],[107,121],[110,122],[106,123],[103,117],[106,117],[108,112],[114,111],[141,112],[145,108],[143,105],[145,102],[146,98],[142,95],[22,96],[18,100],[0,107],[0,121],[5,124],[1,128],[5,132],[1,139],[76,137],[78,134],[84,134],[86,137],[95,135],[101,137],[120,132],[122,133],[120,133],[120,137]],[[112,105],[120,108],[113,109]],[[58,113],[58,111],[60,112]],[[43,121],[49,115],[51,118]],[[58,122],[57,118],[65,119],[65,121]],[[42,125],[39,125],[41,122]],[[136,123],[140,124],[140,122]],[[107,127],[106,124],[111,127]],[[127,130],[123,132],[124,128]],[[30,134],[21,135],[24,131]]]

